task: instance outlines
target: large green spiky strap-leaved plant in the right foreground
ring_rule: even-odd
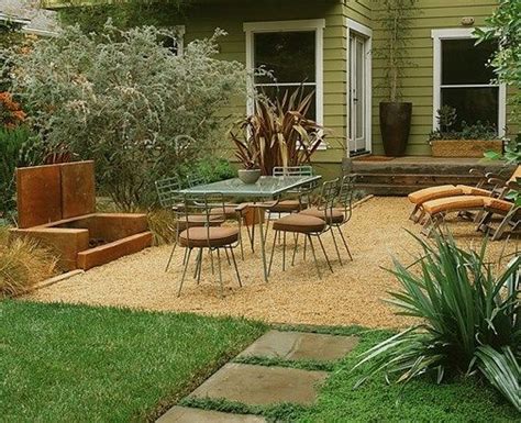
[[[495,276],[485,259],[486,241],[479,252],[467,252],[451,235],[437,235],[432,244],[417,240],[423,254],[415,266],[393,261],[402,290],[390,292],[389,302],[421,323],[364,353],[355,368],[367,364],[366,372],[357,385],[380,371],[397,382],[434,374],[439,383],[478,374],[521,411],[521,256]]]

